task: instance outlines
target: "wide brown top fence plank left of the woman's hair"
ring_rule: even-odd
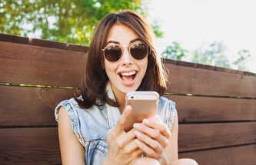
[[[85,53],[0,41],[0,82],[78,87]]]

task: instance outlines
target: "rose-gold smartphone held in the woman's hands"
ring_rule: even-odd
[[[131,105],[131,115],[125,124],[125,131],[131,130],[134,123],[154,116],[158,109],[159,94],[155,91],[131,91],[125,95],[125,106]]]

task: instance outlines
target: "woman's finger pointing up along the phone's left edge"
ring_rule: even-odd
[[[121,114],[121,117],[118,119],[118,124],[115,127],[116,133],[121,134],[121,132],[125,129],[125,123],[128,119],[128,117],[131,114],[131,106],[128,105],[125,107],[123,113]]]

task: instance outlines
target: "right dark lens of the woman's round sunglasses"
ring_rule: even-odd
[[[130,52],[133,58],[142,60],[148,55],[148,47],[145,44],[138,43],[131,46]]]

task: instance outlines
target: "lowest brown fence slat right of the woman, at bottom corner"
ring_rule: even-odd
[[[192,158],[198,164],[255,164],[256,163],[256,144],[227,147],[214,150],[200,150],[193,152],[179,153],[179,158]]]

